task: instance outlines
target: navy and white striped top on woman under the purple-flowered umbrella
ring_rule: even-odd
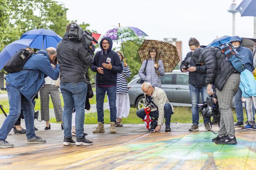
[[[128,85],[125,78],[131,77],[132,73],[129,66],[124,66],[123,60],[121,63],[123,65],[123,73],[117,73],[116,93],[128,93]]]

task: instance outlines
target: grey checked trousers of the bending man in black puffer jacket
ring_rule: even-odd
[[[236,91],[239,88],[239,84],[240,75],[238,73],[234,73],[228,77],[228,80],[221,91],[218,89],[216,90],[219,109],[221,112],[219,137],[224,135],[233,137],[235,135],[234,116],[231,110],[231,104],[234,94],[236,94]]]

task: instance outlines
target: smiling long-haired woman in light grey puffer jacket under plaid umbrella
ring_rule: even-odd
[[[164,75],[163,61],[158,60],[158,49],[151,47],[148,51],[148,59],[142,62],[139,70],[139,76],[144,82],[150,82],[152,86],[162,88],[160,76]],[[146,61],[148,61],[146,66]],[[146,67],[146,75],[144,69]]]

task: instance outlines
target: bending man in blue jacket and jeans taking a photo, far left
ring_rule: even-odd
[[[20,56],[13,56],[14,59]],[[13,58],[12,57],[12,58]],[[56,49],[53,47],[46,50],[40,50],[38,53],[32,54],[24,66],[18,72],[9,72],[5,76],[6,89],[9,98],[9,114],[4,120],[3,126],[0,129],[0,147],[7,148],[14,145],[5,141],[8,133],[20,116],[20,110],[23,110],[25,124],[27,129],[26,143],[45,143],[46,140],[35,135],[34,129],[34,105],[32,100],[39,90],[44,85],[44,77],[51,77],[57,80],[59,77],[59,64],[54,63],[56,59]],[[8,63],[8,62],[7,62]],[[18,63],[18,62],[13,62]],[[54,69],[51,63],[56,64]],[[19,63],[20,64],[20,63]],[[17,68],[20,65],[9,65],[12,68]],[[6,68],[6,67],[4,67]]]

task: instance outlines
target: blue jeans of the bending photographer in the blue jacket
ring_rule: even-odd
[[[32,102],[28,101],[14,86],[6,82],[6,89],[9,99],[9,114],[5,118],[4,123],[0,129],[0,140],[5,140],[8,133],[13,128],[13,125],[20,117],[20,110],[23,110],[23,115],[25,119],[25,125],[27,129],[27,139],[34,138],[35,129],[34,129],[34,105]]]

